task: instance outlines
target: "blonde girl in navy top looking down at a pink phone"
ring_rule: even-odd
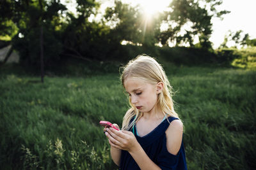
[[[183,125],[163,67],[152,57],[138,56],[124,67],[121,80],[131,108],[122,131],[104,129],[115,164],[120,169],[187,169]]]

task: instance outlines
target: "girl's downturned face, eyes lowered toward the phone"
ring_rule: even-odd
[[[140,80],[139,78],[127,78],[124,83],[125,90],[129,94],[131,103],[143,113],[151,113],[156,108],[159,87]]]

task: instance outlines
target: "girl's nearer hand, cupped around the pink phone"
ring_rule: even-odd
[[[116,131],[113,128],[106,128],[106,136],[109,144],[121,150],[132,152],[140,146],[134,134],[130,131]]]

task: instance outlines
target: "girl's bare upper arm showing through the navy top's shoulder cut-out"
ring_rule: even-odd
[[[173,120],[168,129],[165,132],[166,134],[166,147],[168,152],[173,155],[177,155],[180,150],[180,145],[182,142],[183,134],[183,124],[180,120]]]

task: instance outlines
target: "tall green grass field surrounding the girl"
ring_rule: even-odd
[[[164,64],[188,169],[256,168],[256,71]],[[1,72],[1,70],[0,70]],[[117,169],[99,120],[122,124],[119,74],[0,73],[0,169]]]

